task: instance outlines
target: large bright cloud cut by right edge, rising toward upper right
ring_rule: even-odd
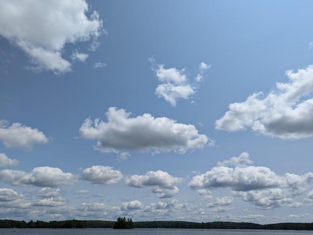
[[[313,65],[286,72],[289,82],[276,83],[267,96],[250,95],[242,103],[232,103],[215,128],[238,131],[251,127],[256,133],[296,140],[313,136]]]

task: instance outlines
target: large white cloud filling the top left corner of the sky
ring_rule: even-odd
[[[71,64],[62,57],[67,43],[92,41],[95,49],[102,32],[96,11],[85,0],[1,1],[0,35],[20,47],[35,70],[65,73]]]

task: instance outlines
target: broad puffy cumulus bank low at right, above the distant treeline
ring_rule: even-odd
[[[228,188],[232,190],[233,196],[240,196],[259,209],[302,206],[302,203],[294,201],[293,198],[310,187],[313,182],[312,172],[304,175],[286,173],[280,176],[267,167],[246,166],[246,163],[252,162],[248,153],[244,152],[239,157],[219,162],[219,166],[204,174],[194,176],[188,185],[195,189]],[[222,197],[216,203],[209,203],[208,207],[223,205],[226,199]]]

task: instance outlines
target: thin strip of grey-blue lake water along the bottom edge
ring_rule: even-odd
[[[14,232],[15,231],[15,232]],[[313,231],[215,229],[0,229],[0,235],[313,235]]]

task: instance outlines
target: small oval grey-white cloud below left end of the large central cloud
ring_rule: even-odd
[[[123,178],[119,170],[112,167],[92,166],[83,171],[82,179],[89,181],[90,184],[116,184]]]

